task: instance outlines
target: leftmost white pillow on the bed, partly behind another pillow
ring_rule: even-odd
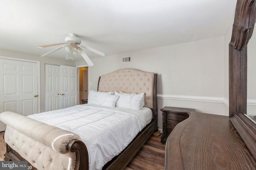
[[[96,92],[94,90],[90,90],[88,94],[88,104],[98,104],[102,105],[106,94],[111,94],[112,92]]]

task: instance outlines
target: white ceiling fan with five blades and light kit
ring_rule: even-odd
[[[71,33],[70,36],[65,38],[66,43],[58,43],[58,44],[50,44],[50,45],[42,45],[42,46],[38,46],[39,48],[45,48],[45,47],[52,47],[52,46],[56,46],[56,45],[62,45],[61,47],[58,47],[57,49],[54,49],[44,55],[42,55],[41,57],[48,55],[50,53],[53,53],[54,51],[57,51],[59,49],[62,49],[65,47],[65,51],[67,52],[66,55],[66,59],[73,59],[74,60],[74,54],[80,54],[82,55],[82,57],[84,58],[84,60],[86,61],[86,63],[89,66],[93,66],[94,64],[92,63],[92,61],[90,60],[90,58],[88,57],[88,55],[86,55],[86,53],[82,50],[82,48],[84,49],[88,49],[89,51],[92,51],[94,53],[97,53],[98,55],[101,56],[105,56],[104,53],[93,49],[91,47],[88,47],[86,45],[81,45],[81,39],[77,37],[76,34]]]

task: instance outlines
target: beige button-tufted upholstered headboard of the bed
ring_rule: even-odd
[[[144,107],[153,109],[154,95],[156,95],[154,94],[154,89],[156,88],[156,75],[157,74],[154,74],[153,72],[144,72],[133,68],[123,68],[101,76],[98,82],[98,91],[122,91],[125,93],[136,94],[144,92]]]

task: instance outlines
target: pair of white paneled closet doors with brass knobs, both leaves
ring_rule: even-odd
[[[77,105],[77,73],[76,67],[45,65],[45,111]]]

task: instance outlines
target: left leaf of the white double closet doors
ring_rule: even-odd
[[[45,111],[60,109],[60,66],[45,64]]]

